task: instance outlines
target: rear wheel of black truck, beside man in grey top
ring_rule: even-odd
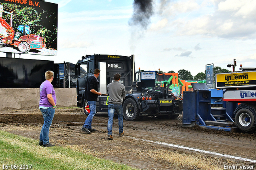
[[[126,121],[138,121],[140,110],[136,101],[132,98],[128,98],[124,101],[123,115]]]

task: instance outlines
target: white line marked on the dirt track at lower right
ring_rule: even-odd
[[[220,154],[220,153],[217,153],[217,152],[211,152],[211,151],[206,151],[206,150],[201,150],[201,149],[196,149],[196,148],[190,148],[190,147],[180,146],[180,145],[176,145],[176,144],[158,142],[158,141],[154,141],[154,140],[145,140],[145,139],[140,139],[140,138],[134,138],[134,139],[135,140],[142,140],[142,141],[145,141],[145,142],[152,142],[152,143],[157,143],[157,144],[163,144],[163,145],[172,146],[172,147],[175,147],[175,148],[181,148],[181,149],[186,149],[186,150],[194,150],[196,152],[202,152],[202,153],[206,153],[206,154],[213,154],[213,155],[217,155],[217,156],[223,156],[223,157],[227,157],[227,158],[233,158],[233,159],[237,159],[237,160],[244,160],[244,161],[256,163],[256,160],[248,159],[248,158],[242,158],[242,157],[238,157],[238,156],[232,156],[232,155],[227,155],[227,154]]]

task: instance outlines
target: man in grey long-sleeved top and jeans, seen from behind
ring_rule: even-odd
[[[112,125],[114,112],[116,111],[118,115],[118,126],[119,126],[119,136],[124,135],[123,130],[123,107],[122,103],[125,98],[125,87],[119,82],[121,75],[116,73],[114,75],[114,81],[108,84],[108,140],[112,140]]]

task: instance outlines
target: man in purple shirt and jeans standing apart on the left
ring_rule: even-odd
[[[46,81],[40,85],[39,109],[44,117],[44,125],[40,132],[39,145],[44,147],[55,146],[49,142],[49,129],[52,125],[52,119],[54,117],[56,107],[56,95],[53,89],[53,85],[51,84],[53,80],[53,74],[53,71],[46,71]]]

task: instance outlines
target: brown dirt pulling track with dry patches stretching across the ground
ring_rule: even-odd
[[[256,160],[255,133],[231,133],[200,127],[183,128],[180,116],[176,120],[146,118],[138,122],[124,121],[125,135],[119,137],[118,120],[114,119],[114,140],[107,140],[108,115],[106,113],[96,114],[92,125],[97,131],[91,134],[83,134],[80,131],[85,119],[86,116],[80,108],[56,109],[50,128],[51,142],[58,146],[81,145],[92,150],[95,156],[141,169],[191,169],[189,166],[179,167],[171,162],[157,160],[154,155],[140,154],[142,151],[148,153],[150,150],[167,150],[217,158],[220,169],[224,169],[224,164],[252,165],[254,169],[256,168],[255,162],[177,148],[186,146]],[[0,130],[29,138],[38,139],[42,124],[42,115],[38,109],[3,110],[0,114]],[[170,146],[170,144],[173,145]]]

